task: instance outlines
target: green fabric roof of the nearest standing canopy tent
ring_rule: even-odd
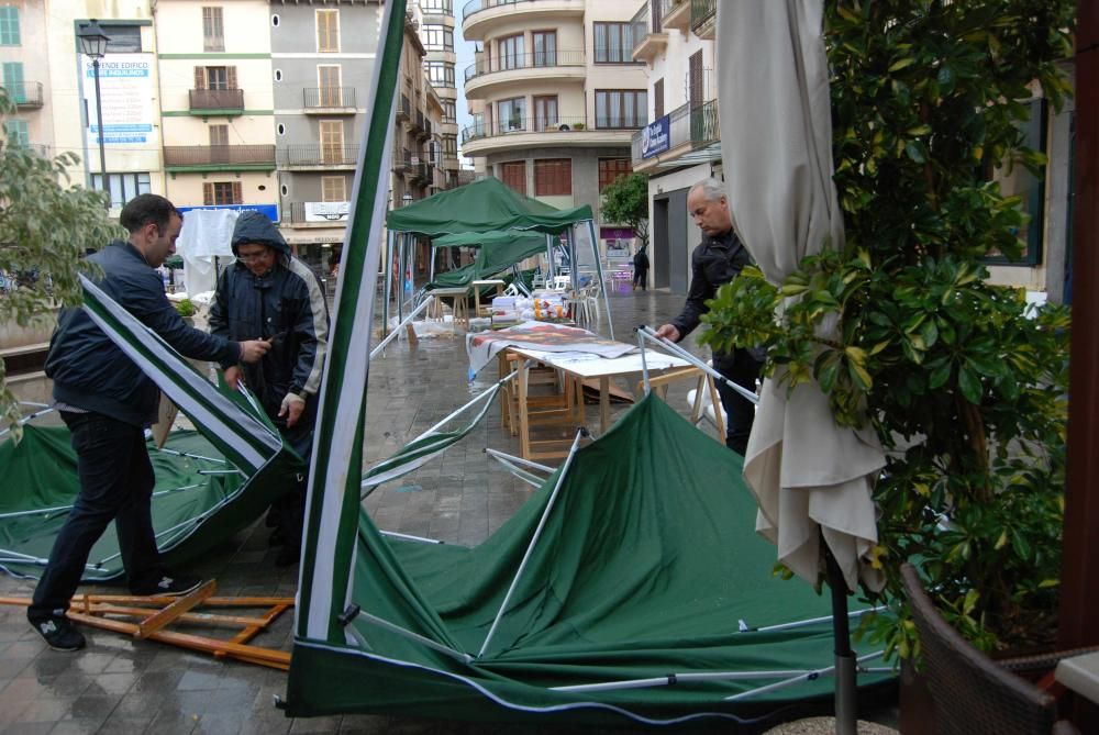
[[[591,219],[591,208],[587,204],[554,209],[517,193],[499,179],[487,178],[393,210],[386,219],[386,226],[392,232],[414,232],[429,237],[492,230],[558,233]]]

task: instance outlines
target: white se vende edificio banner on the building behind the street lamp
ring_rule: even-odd
[[[88,110],[88,145],[99,145],[96,118],[96,70],[82,57],[84,98]],[[99,63],[99,87],[103,99],[103,143],[109,146],[156,143],[153,127],[152,54],[108,54]]]

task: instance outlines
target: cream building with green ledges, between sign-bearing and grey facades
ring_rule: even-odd
[[[165,196],[278,220],[265,0],[158,0]]]

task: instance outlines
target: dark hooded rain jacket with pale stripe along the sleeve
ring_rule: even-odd
[[[270,352],[259,363],[244,366],[244,380],[273,419],[291,391],[307,400],[311,413],[328,352],[324,292],[313,271],[290,255],[282,235],[263,214],[241,214],[233,230],[234,254],[242,243],[262,243],[279,256],[263,277],[242,263],[234,263],[221,275],[210,310],[210,331],[236,341],[274,337]]]

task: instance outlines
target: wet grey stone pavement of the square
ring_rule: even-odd
[[[611,296],[615,336],[633,342],[632,327],[658,325],[674,315],[681,297],[663,292],[619,291]],[[607,315],[592,325],[608,333]],[[695,354],[697,334],[685,343]],[[466,380],[460,336],[421,339],[410,349],[391,345],[370,367],[367,393],[365,461],[388,457],[496,379],[492,367],[473,383]],[[689,383],[689,385],[688,385]],[[668,402],[689,414],[686,393],[693,381],[673,383]],[[614,411],[625,410],[613,405]],[[598,424],[595,407],[589,422]],[[703,424],[706,425],[706,424]],[[707,431],[713,435],[712,427]],[[379,488],[367,508],[380,528],[429,536],[447,543],[477,544],[497,530],[533,489],[490,459],[484,447],[519,454],[518,438],[501,426],[500,412],[464,442],[415,474]],[[292,597],[298,568],[277,569],[277,548],[257,522],[211,549],[186,571],[218,580],[224,595]],[[791,582],[796,583],[796,582]],[[0,575],[0,597],[30,597],[33,581]],[[87,587],[81,592],[120,593],[119,588]],[[282,615],[254,643],[290,649],[292,619]],[[0,605],[0,732],[2,733],[593,733],[629,730],[470,725],[393,716],[348,715],[290,720],[274,708],[284,695],[286,673],[238,661],[215,660],[166,644],[135,641],[88,627],[88,648],[49,650],[26,623],[21,608]],[[877,716],[892,724],[891,701]],[[684,731],[677,731],[684,732]],[[693,731],[698,732],[698,731]],[[702,732],[728,732],[728,725]]]

